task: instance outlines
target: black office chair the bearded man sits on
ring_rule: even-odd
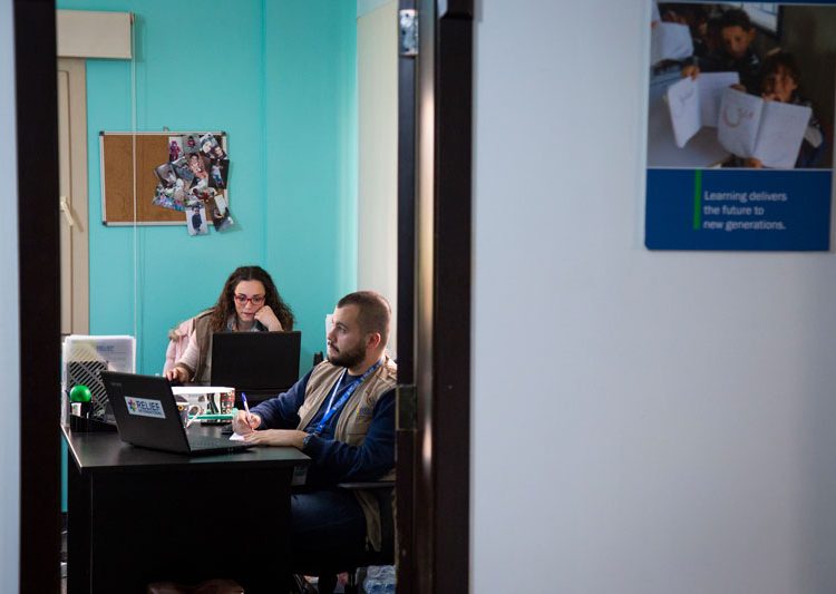
[[[337,574],[348,572],[349,583],[346,585],[344,592],[346,594],[357,594],[357,569],[359,567],[395,564],[395,515],[392,513],[395,481],[340,483],[338,487],[343,489],[364,489],[375,494],[380,507],[380,551],[358,552],[358,555],[351,561],[344,559],[333,565],[305,567],[302,571],[294,569],[294,572],[318,576],[317,591],[320,594],[333,592],[337,586]]]

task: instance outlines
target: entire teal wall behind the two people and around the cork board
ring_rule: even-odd
[[[307,371],[323,349],[324,314],[357,277],[356,3],[58,8],[135,13],[138,132],[229,135],[233,230],[101,225],[99,130],[133,127],[132,64],[88,60],[90,333],[136,333],[137,370],[158,373],[168,328],[214,303],[235,266],[256,263],[297,314]]]

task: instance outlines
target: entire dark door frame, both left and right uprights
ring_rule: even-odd
[[[415,127],[420,221],[412,244],[418,247],[414,334],[399,323],[399,344],[415,344],[412,364],[404,367],[415,369],[417,464],[409,479],[415,481],[414,545],[405,541],[411,567],[399,583],[401,593],[469,588],[473,0],[440,3],[439,9],[435,0],[419,0],[418,6],[416,105],[424,107]],[[21,296],[19,577],[22,592],[57,592],[60,276],[56,45],[49,35],[56,7],[52,0],[12,0],[12,10]],[[38,39],[37,48],[32,39]],[[420,247],[429,251],[421,254]],[[400,312],[400,286],[398,292]],[[398,351],[402,360],[404,351]],[[406,479],[401,476],[399,483]]]

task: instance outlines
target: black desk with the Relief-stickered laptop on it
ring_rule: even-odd
[[[188,457],[136,448],[115,432],[62,431],[70,594],[145,594],[155,581],[213,577],[247,594],[286,590],[290,481],[308,456],[253,448]]]

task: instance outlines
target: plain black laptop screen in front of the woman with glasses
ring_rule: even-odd
[[[270,397],[299,380],[302,333],[218,332],[212,335],[212,386]]]

